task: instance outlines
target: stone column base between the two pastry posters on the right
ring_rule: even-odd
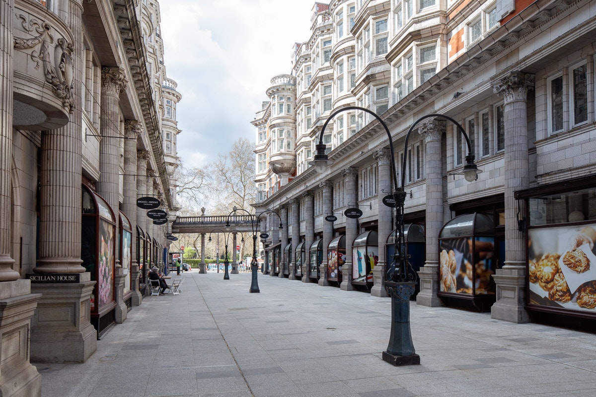
[[[493,274],[496,283],[496,302],[491,307],[491,318],[510,323],[529,323],[530,315],[524,308],[526,302],[526,270],[518,268],[497,269]]]

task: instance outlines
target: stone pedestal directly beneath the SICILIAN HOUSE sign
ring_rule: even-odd
[[[85,277],[86,276],[86,277]],[[85,362],[97,350],[97,331],[91,324],[90,273],[80,283],[33,284],[42,293],[31,321],[33,362]]]

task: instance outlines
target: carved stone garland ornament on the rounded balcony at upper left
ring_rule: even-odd
[[[52,86],[55,95],[62,100],[64,108],[72,113],[75,109],[73,104],[74,63],[72,43],[66,42],[63,38],[56,40],[57,45],[54,48],[54,62],[52,64],[49,45],[54,43],[54,37],[49,33],[52,29],[50,24],[39,22],[36,19],[29,20],[29,24],[27,24],[27,18],[24,15],[17,15],[17,18],[21,20],[23,29],[27,32],[35,31],[38,36],[30,39],[14,37],[14,48],[18,50],[32,49],[41,43],[39,52],[34,50],[30,54],[31,59],[36,62],[35,69],[39,69],[39,62],[41,62],[44,67],[46,83]]]

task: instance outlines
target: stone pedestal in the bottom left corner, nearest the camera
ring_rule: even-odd
[[[30,293],[29,280],[2,282],[0,290],[0,396],[41,396],[41,375],[29,360],[31,318],[41,295]]]

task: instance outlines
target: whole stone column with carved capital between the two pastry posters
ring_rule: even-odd
[[[526,304],[526,235],[517,230],[516,190],[529,187],[527,145],[527,91],[533,89],[535,76],[514,71],[494,85],[494,92],[505,99],[505,245],[507,258],[493,275],[496,303],[491,317],[513,323],[530,321]],[[520,202],[522,207],[525,206]],[[522,214],[526,214],[522,208]]]

